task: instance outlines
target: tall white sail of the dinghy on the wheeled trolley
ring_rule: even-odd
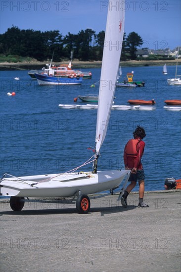
[[[106,136],[124,35],[125,1],[109,0],[99,86],[95,151]]]

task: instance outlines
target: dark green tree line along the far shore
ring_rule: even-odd
[[[98,34],[91,29],[81,30],[78,34],[62,36],[59,30],[35,31],[32,29],[20,30],[16,26],[8,28],[4,34],[0,34],[0,54],[31,57],[39,61],[52,58],[60,62],[65,58],[70,59],[70,52],[74,51],[74,57],[82,61],[102,60],[105,32]],[[124,34],[121,60],[136,59],[136,48],[142,45],[141,37],[131,32]]]

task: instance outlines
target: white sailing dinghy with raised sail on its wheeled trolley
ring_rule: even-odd
[[[10,196],[12,210],[20,211],[26,201],[25,198],[28,198],[29,201],[29,197],[72,197],[71,201],[77,197],[76,208],[78,212],[88,213],[90,209],[88,194],[106,190],[113,192],[126,179],[125,187],[130,170],[97,171],[97,160],[100,156],[100,147],[106,136],[116,86],[124,34],[124,4],[122,0],[109,1],[105,32],[106,46],[103,51],[98,95],[94,155],[84,164],[67,173],[28,177],[4,174],[0,180],[0,194]],[[91,172],[75,172],[91,162],[93,162]]]

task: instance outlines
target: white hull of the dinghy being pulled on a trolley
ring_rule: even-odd
[[[87,172],[4,178],[0,180],[0,194],[21,197],[71,197],[79,190],[83,194],[92,194],[118,187],[129,173],[129,170],[110,170],[98,171],[97,174]]]

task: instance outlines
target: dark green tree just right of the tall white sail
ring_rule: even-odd
[[[137,46],[142,45],[143,41],[141,37],[136,32],[131,32],[127,39],[126,39],[126,45],[127,50],[130,54],[131,59],[136,59],[136,50]]]

